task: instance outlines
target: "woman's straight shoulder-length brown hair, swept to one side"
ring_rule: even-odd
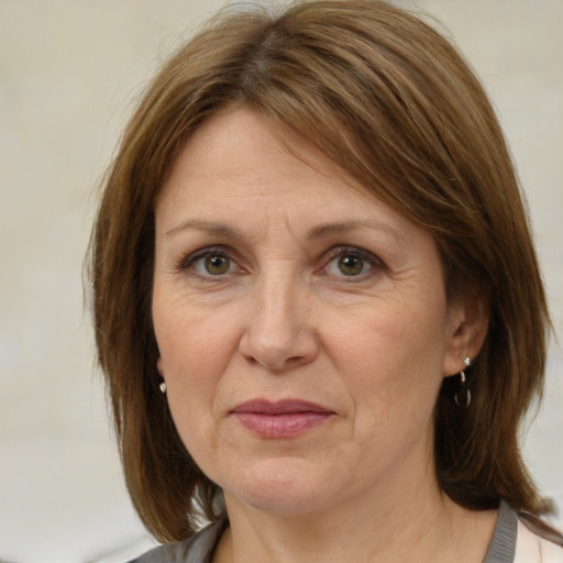
[[[211,520],[221,490],[196,466],[158,393],[151,319],[154,201],[183,141],[213,112],[245,104],[312,141],[393,208],[433,233],[450,299],[490,308],[470,373],[473,401],[444,384],[435,408],[442,489],[468,508],[541,514],[518,445],[540,394],[549,318],[528,220],[503,133],[452,45],[385,2],[308,1],[279,15],[223,12],[162,68],[106,178],[90,275],[129,492],[162,541]]]

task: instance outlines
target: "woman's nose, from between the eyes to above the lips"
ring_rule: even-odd
[[[253,291],[239,350],[251,364],[282,373],[312,362],[319,342],[311,325],[311,296],[289,275],[262,279]]]

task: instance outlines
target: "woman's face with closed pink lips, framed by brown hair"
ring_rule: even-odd
[[[190,137],[158,198],[158,367],[228,505],[305,512],[433,478],[460,316],[432,236],[350,184],[238,109]]]

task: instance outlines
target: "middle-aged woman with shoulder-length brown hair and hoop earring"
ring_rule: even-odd
[[[91,261],[128,487],[168,542],[140,562],[562,560],[516,516],[549,508],[517,441],[549,329],[519,188],[413,15],[211,22],[132,118]]]

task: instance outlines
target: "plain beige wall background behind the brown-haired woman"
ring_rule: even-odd
[[[220,3],[0,0],[0,561],[117,562],[147,545],[93,368],[81,265],[97,183],[143,84]],[[493,97],[561,339],[563,2],[399,3],[442,21]],[[563,506],[555,343],[525,448],[543,490]]]

